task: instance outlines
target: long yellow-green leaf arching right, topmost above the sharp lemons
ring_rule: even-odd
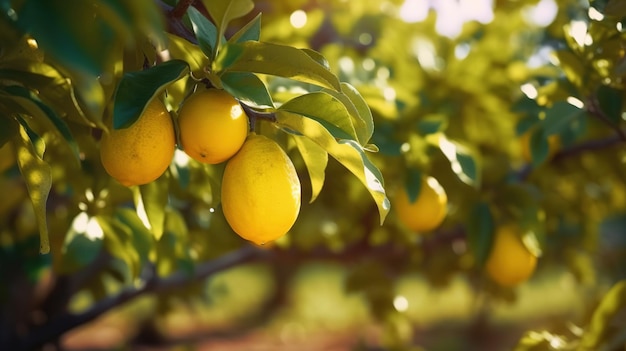
[[[228,46],[238,46],[241,54],[217,71],[263,73],[341,91],[337,77],[301,49],[257,41]]]

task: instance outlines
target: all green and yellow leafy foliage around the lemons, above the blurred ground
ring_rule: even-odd
[[[435,11],[402,20],[404,3],[0,2],[0,343],[54,342],[142,293],[202,298],[194,282],[234,265],[263,262],[278,282],[293,274],[280,262],[334,257],[349,267],[347,291],[388,326],[386,346],[408,347],[394,327],[404,276],[444,287],[461,275],[490,301],[515,299],[483,269],[506,222],[540,255],[538,273],[565,267],[600,301],[626,278],[623,2],[494,1],[492,18],[457,35],[437,31]],[[542,3],[558,7],[549,23],[532,11]],[[250,247],[225,221],[223,164],[177,150],[159,179],[130,188],[101,165],[102,133],[132,125],[154,98],[176,121],[201,86],[234,96],[296,165],[304,205],[271,247]],[[393,211],[394,192],[416,198],[423,176],[449,203],[425,237]],[[607,322],[621,285],[567,338],[621,342]],[[73,313],[84,292],[91,309]],[[518,348],[560,335],[534,333]]]

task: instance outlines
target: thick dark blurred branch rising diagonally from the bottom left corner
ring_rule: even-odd
[[[266,251],[253,246],[248,246],[196,266],[192,275],[184,272],[177,272],[166,278],[155,278],[140,287],[129,288],[121,291],[117,295],[103,299],[84,312],[66,314],[54,320],[50,320],[45,325],[33,329],[29,335],[26,335],[23,338],[14,337],[12,340],[9,340],[7,350],[17,351],[37,349],[44,344],[57,339],[65,332],[90,322],[105,312],[132,301],[146,293],[159,293],[184,286],[185,284],[205,279],[212,274],[224,271],[236,265],[263,260],[267,257],[268,253]]]

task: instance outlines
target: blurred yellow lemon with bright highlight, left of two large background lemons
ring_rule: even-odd
[[[395,199],[394,208],[404,225],[416,232],[428,232],[437,228],[448,213],[448,197],[437,179],[423,177],[420,192],[411,202],[406,190],[401,189]]]

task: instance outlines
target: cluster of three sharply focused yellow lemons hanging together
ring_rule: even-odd
[[[273,140],[249,133],[248,118],[227,92],[194,92],[178,110],[179,144],[194,160],[226,162],[221,198],[224,216],[242,238],[265,244],[293,226],[301,189],[295,167]],[[153,99],[130,127],[101,140],[105,170],[125,186],[159,178],[169,167],[177,138],[165,105]]]

